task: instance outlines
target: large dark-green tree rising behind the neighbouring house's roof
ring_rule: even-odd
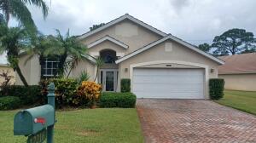
[[[243,51],[253,49],[254,43],[253,32],[237,28],[230,29],[222,35],[214,37],[212,43],[213,54],[241,54]]]

